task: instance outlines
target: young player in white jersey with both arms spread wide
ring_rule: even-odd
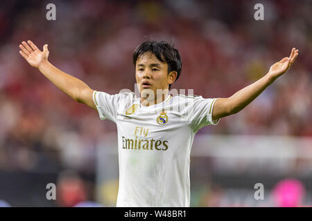
[[[179,52],[164,41],[145,41],[133,54],[140,97],[134,93],[92,90],[80,79],[63,73],[48,61],[48,46],[40,51],[23,41],[20,54],[31,66],[75,101],[98,111],[118,129],[119,193],[117,206],[189,206],[189,162],[196,132],[218,124],[221,117],[250,104],[295,61],[291,50],[258,81],[227,98],[177,95],[168,88],[180,76]]]

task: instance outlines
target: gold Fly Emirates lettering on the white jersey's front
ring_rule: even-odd
[[[157,150],[157,151],[166,151],[168,150],[168,141],[167,140],[150,140],[139,137],[147,137],[148,128],[135,127],[135,139],[128,139],[128,137],[123,138],[123,149],[136,149],[136,150]]]

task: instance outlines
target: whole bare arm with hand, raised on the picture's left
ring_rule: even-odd
[[[32,41],[23,41],[19,48],[19,54],[26,59],[28,64],[38,68],[40,72],[49,79],[55,86],[60,88],[64,93],[69,95],[76,102],[87,104],[87,106],[96,110],[93,102],[93,92],[85,82],[80,79],[62,72],[62,70],[53,66],[49,61],[48,45],[44,45],[43,51],[39,50]]]

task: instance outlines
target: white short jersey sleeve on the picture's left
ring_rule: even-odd
[[[118,106],[123,104],[126,96],[121,94],[109,95],[105,92],[94,90],[92,97],[100,118],[116,122]]]

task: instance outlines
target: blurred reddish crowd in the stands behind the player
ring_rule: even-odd
[[[229,97],[270,66],[300,55],[243,111],[198,133],[312,136],[312,4],[265,1],[4,1],[0,8],[0,169],[94,173],[112,122],[67,97],[19,55],[21,41],[49,45],[49,61],[94,90],[135,90],[132,52],[148,38],[174,40],[182,75],[172,86]]]

